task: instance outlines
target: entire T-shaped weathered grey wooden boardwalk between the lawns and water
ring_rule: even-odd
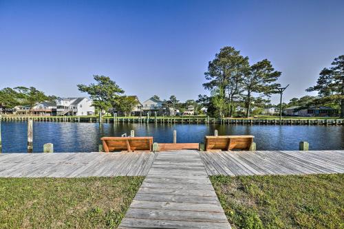
[[[208,175],[344,173],[344,151],[0,153],[0,177],[146,176],[119,228],[230,228]]]

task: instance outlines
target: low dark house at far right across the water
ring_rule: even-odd
[[[332,107],[288,107],[283,109],[285,116],[301,116],[301,117],[333,117],[338,116],[338,109]]]

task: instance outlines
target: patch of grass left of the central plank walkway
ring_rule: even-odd
[[[0,228],[116,228],[142,180],[0,178]]]

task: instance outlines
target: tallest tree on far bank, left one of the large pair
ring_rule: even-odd
[[[223,47],[219,54],[215,54],[215,59],[209,61],[208,72],[204,73],[209,82],[203,86],[217,95],[214,105],[219,109],[218,113],[233,115],[233,102],[242,93],[248,69],[248,57],[241,56],[234,47]]]

